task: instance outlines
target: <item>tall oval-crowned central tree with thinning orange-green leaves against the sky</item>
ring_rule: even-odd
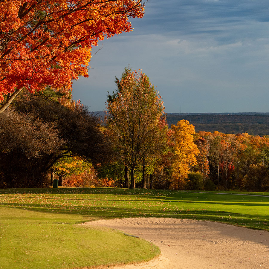
[[[137,165],[144,166],[166,147],[167,128],[160,122],[164,107],[141,71],[126,68],[116,84],[117,90],[108,96],[108,129],[122,162],[130,168],[130,187],[135,188]]]

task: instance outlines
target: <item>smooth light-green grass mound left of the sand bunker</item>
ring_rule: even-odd
[[[159,249],[77,215],[1,207],[0,268],[81,268],[148,260]]]

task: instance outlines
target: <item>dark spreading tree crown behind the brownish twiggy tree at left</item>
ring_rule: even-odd
[[[22,113],[33,113],[43,122],[55,124],[59,136],[65,140],[56,159],[80,156],[94,164],[108,160],[110,143],[100,130],[99,119],[90,115],[86,106],[70,109],[39,95],[16,103],[16,107]]]

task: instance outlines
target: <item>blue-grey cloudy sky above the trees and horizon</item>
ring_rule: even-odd
[[[124,68],[141,69],[166,113],[269,112],[268,0],[151,0],[134,30],[93,47],[74,100],[106,109]]]

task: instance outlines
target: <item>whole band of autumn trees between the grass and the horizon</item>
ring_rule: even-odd
[[[0,117],[1,187],[269,189],[269,137],[168,127],[161,96],[126,68],[108,93],[104,126],[47,88],[22,91]]]

